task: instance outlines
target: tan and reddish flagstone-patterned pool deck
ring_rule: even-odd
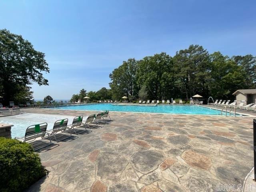
[[[128,112],[110,116],[113,121],[102,128],[39,153],[50,172],[27,191],[217,191],[227,184],[243,185],[253,167],[252,117]]]

